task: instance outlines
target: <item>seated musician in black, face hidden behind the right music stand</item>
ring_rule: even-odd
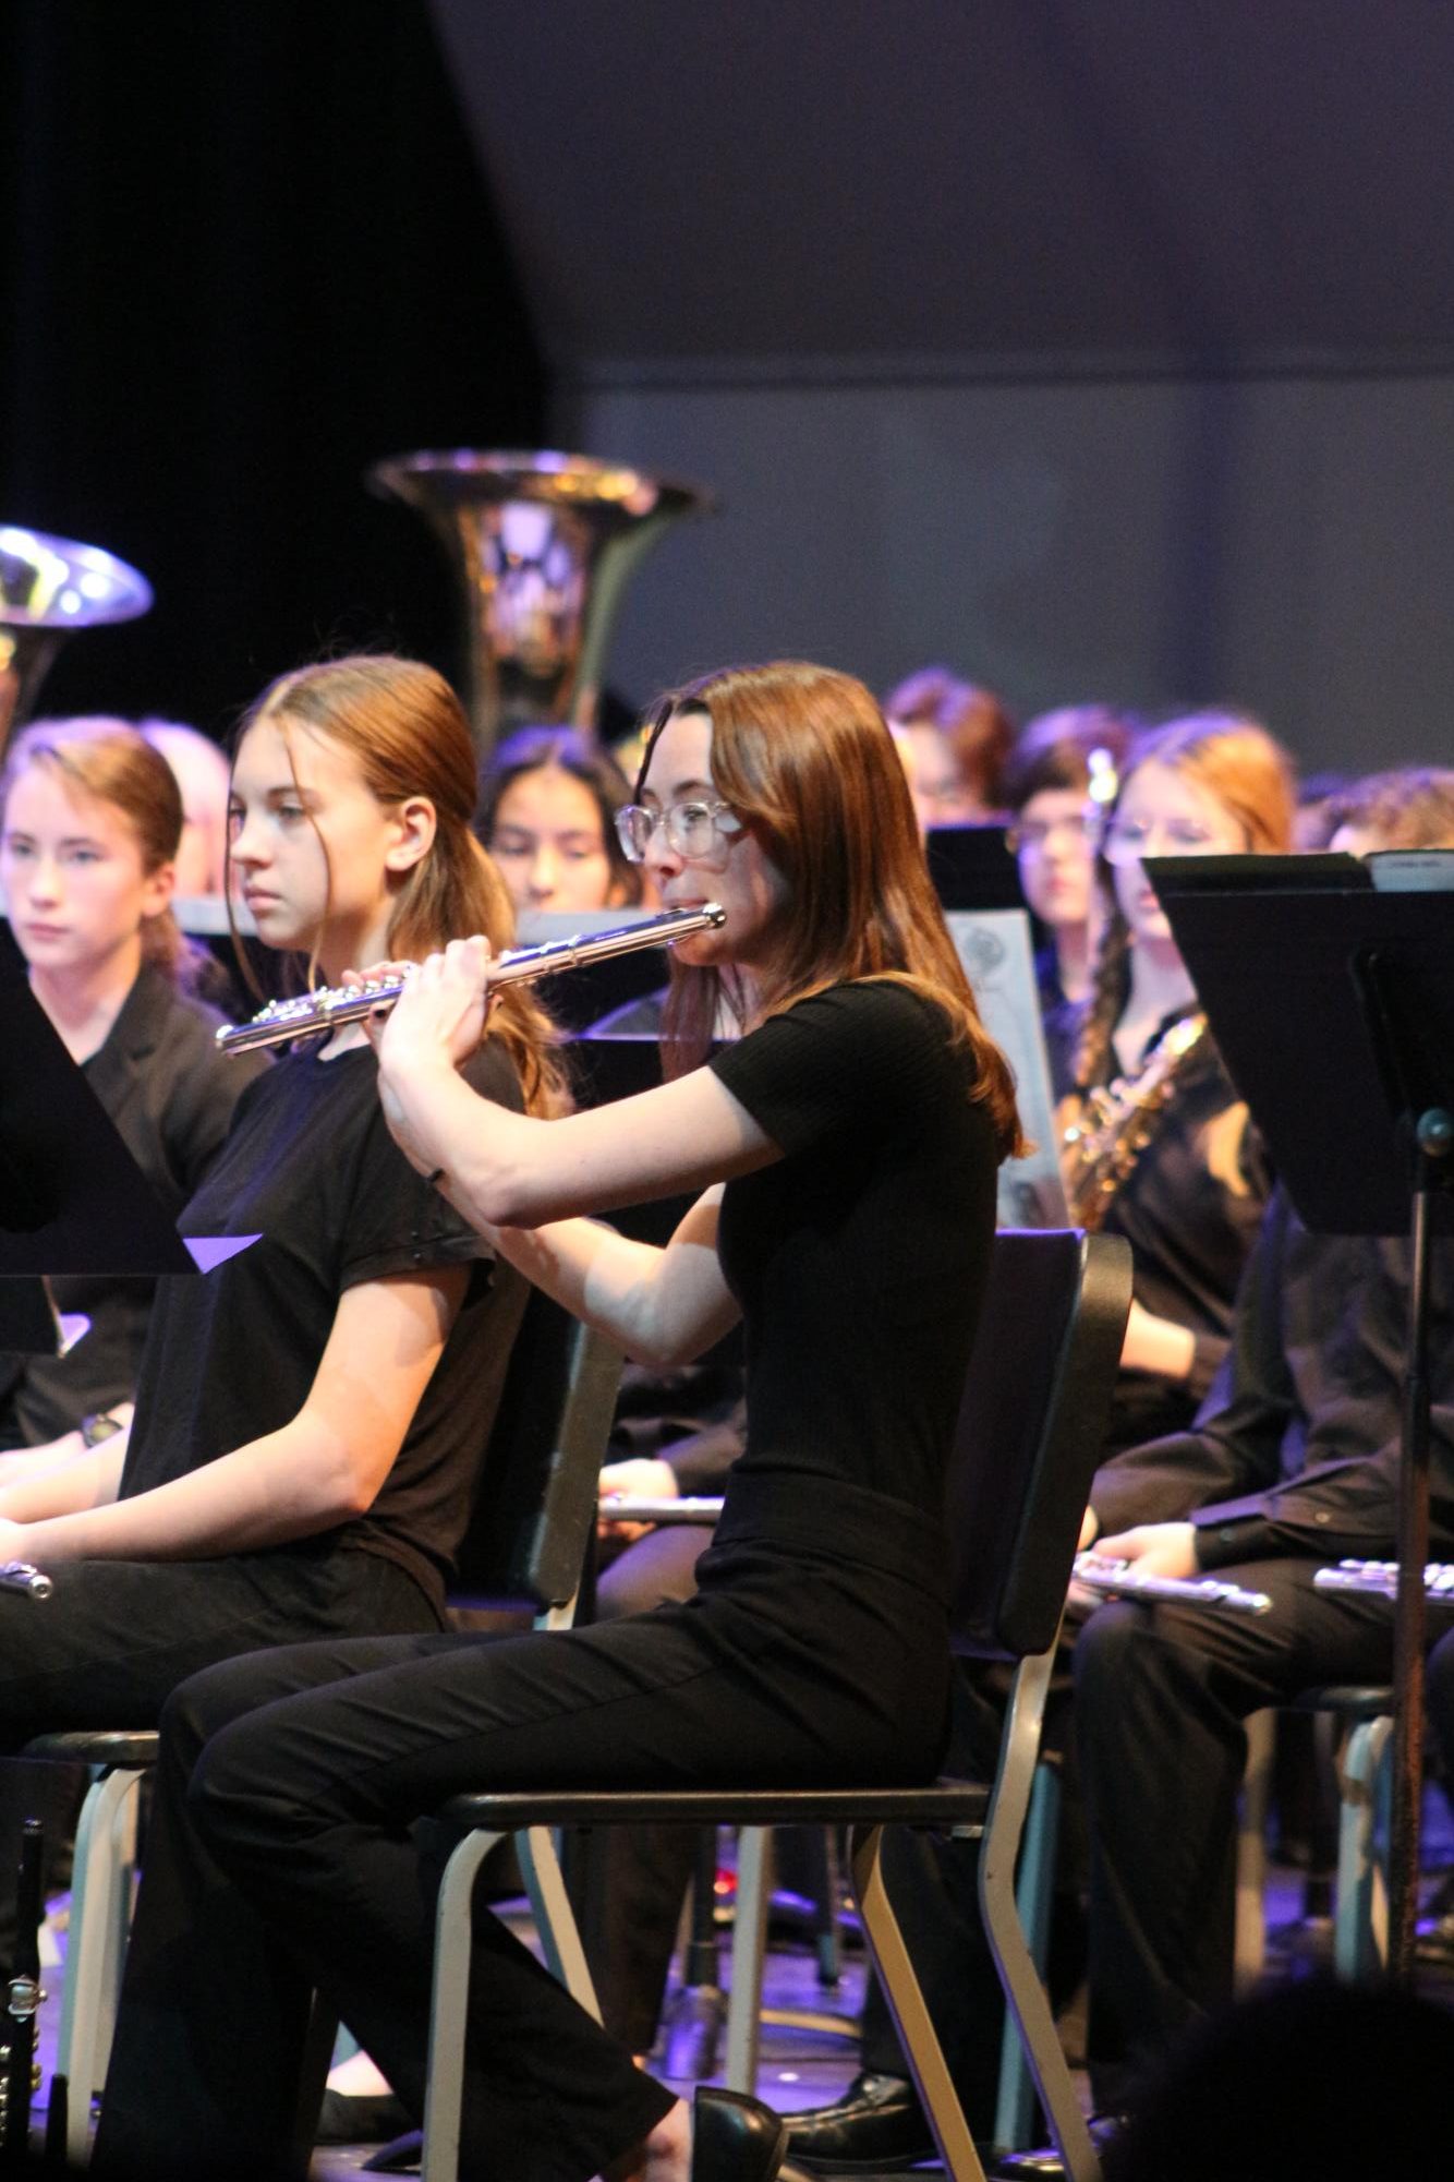
[[[1380,775],[1349,794],[1345,823],[1336,844],[1358,851],[1454,842],[1454,775]],[[1454,1543],[1452,1248],[1439,1248],[1443,1316],[1430,1344],[1441,1375],[1437,1551],[1441,1538]],[[1086,1543],[1094,1536],[1105,1554],[1144,1554],[1162,1573],[1216,1569],[1277,1602],[1258,1619],[1107,1606],[1075,1643],[1092,1835],[1090,2058],[1101,2110],[1120,2108],[1131,2051],[1153,2049],[1232,1990],[1240,1722],[1280,1691],[1389,1678],[1386,1604],[1314,1593],[1312,1575],[1341,1554],[1393,1551],[1404,1261],[1397,1242],[1310,1235],[1275,1191],[1238,1292],[1232,1346],[1195,1423],[1112,1455],[1096,1475]],[[1301,1475],[1284,1486],[1288,1473]],[[953,1763],[983,1770],[998,1746],[994,1695],[981,1676],[961,1676],[955,1702]],[[1062,1726],[1046,1726],[1046,1739],[1053,1733]],[[885,1868],[955,2086],[970,2125],[987,2136],[1001,1994],[979,1927],[974,1857],[896,1835]],[[931,2156],[929,2125],[876,1994],[861,2062],[835,2106],[793,2117],[789,2141],[800,2165],[887,2169]],[[1035,2171],[1049,2171],[1044,2158],[1035,2154]]]

